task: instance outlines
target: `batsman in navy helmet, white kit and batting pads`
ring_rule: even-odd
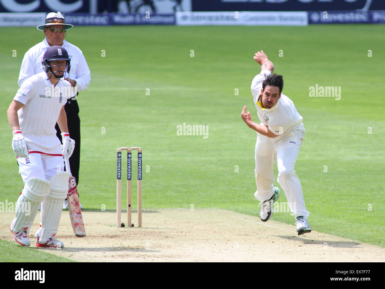
[[[54,45],[45,51],[41,64],[44,72],[23,82],[7,111],[12,148],[25,183],[10,230],[18,244],[30,246],[28,233],[41,203],[42,231],[36,246],[62,248],[63,242],[55,237],[68,192],[69,173],[64,171],[63,156],[69,157],[75,147],[64,110],[72,97],[71,84],[65,80],[70,57],[64,47]],[[56,136],[56,122],[62,131],[62,145]],[[27,204],[30,210],[24,209]]]

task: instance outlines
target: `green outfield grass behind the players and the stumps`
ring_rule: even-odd
[[[1,30],[4,202],[16,201],[23,186],[6,111],[18,89],[23,54],[44,35],[35,28]],[[257,120],[250,84],[260,71],[253,55],[262,49],[283,74],[283,93],[304,118],[306,134],[296,172],[311,228],[384,247],[383,32],[381,25],[69,30],[66,39],[82,49],[92,77],[89,88],[79,94],[78,190],[85,210],[104,205],[115,209],[116,148],[141,146],[144,209],[193,204],[195,209],[259,215],[253,195],[256,133],[240,115],[248,105]],[[12,57],[13,50],[17,57]],[[316,84],[340,86],[341,99],[309,97],[309,87]],[[208,138],[177,135],[177,125],[184,122],[208,125]],[[136,161],[133,164],[135,176]],[[286,201],[281,194],[280,202]],[[295,222],[288,212],[277,212],[272,219]],[[4,244],[0,254],[7,249]]]

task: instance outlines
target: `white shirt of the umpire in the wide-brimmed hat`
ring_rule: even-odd
[[[47,38],[35,46],[31,47],[24,55],[22,67],[20,68],[18,85],[21,86],[23,81],[32,75],[44,72],[42,66],[43,55],[45,51],[50,47],[47,42]],[[77,82],[77,91],[87,89],[91,80],[90,69],[85,61],[82,50],[75,45],[63,41],[63,45],[71,59],[71,68],[69,78],[74,79]],[[24,134],[24,132],[23,132]]]

